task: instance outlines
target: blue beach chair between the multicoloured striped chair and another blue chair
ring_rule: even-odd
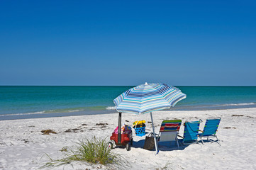
[[[198,141],[199,125],[200,125],[200,121],[194,121],[194,122],[186,121],[184,123],[183,137],[178,135],[179,137],[182,137],[182,145],[190,145],[193,143],[199,144],[199,141]]]

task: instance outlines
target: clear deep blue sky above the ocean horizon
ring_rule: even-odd
[[[0,1],[0,85],[256,85],[256,1]]]

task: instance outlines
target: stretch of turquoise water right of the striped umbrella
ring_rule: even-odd
[[[175,108],[245,108],[256,107],[256,86],[179,86],[187,98]]]

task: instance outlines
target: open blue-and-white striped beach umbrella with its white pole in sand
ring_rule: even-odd
[[[132,89],[128,89],[113,100],[116,111],[119,112],[118,138],[121,138],[121,113],[144,114],[150,113],[152,131],[155,139],[155,149],[158,152],[157,140],[155,137],[155,127],[152,118],[152,111],[160,111],[174,107],[178,101],[186,98],[187,95],[174,86],[167,84],[141,84]],[[120,133],[120,134],[119,134]]]

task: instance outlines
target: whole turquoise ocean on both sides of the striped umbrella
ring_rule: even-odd
[[[133,86],[0,86],[0,120],[116,113]],[[256,107],[256,86],[176,86],[187,98],[171,110]]]

